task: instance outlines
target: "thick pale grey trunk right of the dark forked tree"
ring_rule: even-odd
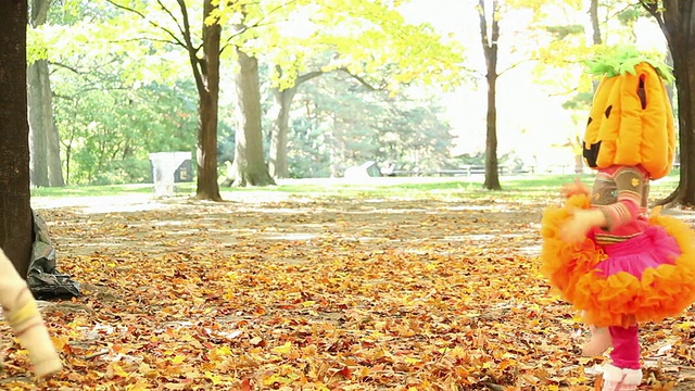
[[[237,48],[239,73],[236,77],[239,100],[236,153],[232,163],[235,186],[275,185],[265,164],[261,117],[258,61]]]

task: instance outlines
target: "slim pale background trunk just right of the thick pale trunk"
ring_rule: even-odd
[[[290,134],[290,110],[292,99],[296,94],[296,85],[283,90],[275,90],[275,100],[280,106],[278,117],[275,119],[275,128],[270,135],[270,159],[268,169],[274,178],[287,178],[289,176],[287,163],[287,141]]]

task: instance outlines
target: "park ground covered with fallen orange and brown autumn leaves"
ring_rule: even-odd
[[[593,389],[604,360],[538,273],[543,204],[238,194],[39,205],[85,295],[41,305],[55,379],[0,324],[0,388]],[[643,389],[693,389],[691,325],[644,327]]]

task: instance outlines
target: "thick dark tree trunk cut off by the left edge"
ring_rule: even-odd
[[[26,278],[34,235],[29,198],[26,0],[0,1],[0,247]]]

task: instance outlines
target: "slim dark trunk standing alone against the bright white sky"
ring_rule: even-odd
[[[480,14],[480,36],[485,55],[488,75],[488,116],[485,133],[485,189],[500,190],[500,173],[497,164],[497,39],[500,39],[500,24],[497,22],[500,4],[492,1],[491,30],[488,31],[488,15],[485,15],[485,0],[478,1]]]

